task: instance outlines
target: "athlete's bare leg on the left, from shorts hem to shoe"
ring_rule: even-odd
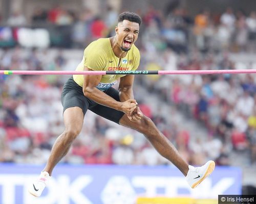
[[[74,139],[82,130],[83,112],[79,107],[72,107],[63,113],[65,131],[56,139],[51,155],[43,171],[51,176],[53,168],[68,153]]]

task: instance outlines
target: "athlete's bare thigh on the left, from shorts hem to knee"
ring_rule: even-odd
[[[67,108],[63,113],[63,121],[67,131],[79,134],[82,130],[83,111],[79,107]]]

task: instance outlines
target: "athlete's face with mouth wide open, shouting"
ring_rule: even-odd
[[[127,52],[131,49],[133,43],[137,40],[139,35],[140,25],[137,22],[123,20],[119,22],[116,31],[116,41],[121,49]]]

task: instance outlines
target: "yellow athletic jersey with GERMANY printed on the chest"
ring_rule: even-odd
[[[100,38],[89,44],[84,49],[83,59],[77,66],[76,71],[84,70],[84,66],[95,71],[116,71],[116,70],[136,70],[140,63],[139,49],[133,44],[124,58],[115,56],[110,38]],[[118,66],[119,65],[119,66]],[[100,83],[96,86],[104,91],[113,86],[120,77],[124,75],[102,75]],[[73,75],[74,81],[82,87],[83,75]]]

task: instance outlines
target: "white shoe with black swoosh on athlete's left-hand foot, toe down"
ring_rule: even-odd
[[[45,189],[49,179],[51,179],[51,176],[48,172],[41,172],[38,179],[30,184],[28,189],[29,193],[36,197],[40,196],[42,194],[42,191]]]

